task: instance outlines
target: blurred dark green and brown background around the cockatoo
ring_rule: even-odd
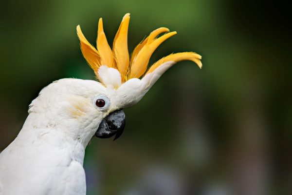
[[[60,78],[94,79],[75,27],[110,44],[131,14],[132,51],[158,27],[178,35],[150,64],[195,51],[125,110],[116,141],[93,137],[88,195],[292,194],[291,10],[251,0],[1,0],[0,151],[18,134],[29,103]]]

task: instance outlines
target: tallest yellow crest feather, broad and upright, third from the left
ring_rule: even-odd
[[[118,32],[113,40],[113,55],[116,60],[116,65],[121,73],[122,80],[126,79],[129,65],[128,53],[128,25],[130,14],[126,14],[120,24]]]

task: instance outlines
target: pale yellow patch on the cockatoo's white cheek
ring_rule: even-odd
[[[70,98],[69,103],[70,103],[68,107],[69,115],[73,118],[86,116],[91,106],[88,99],[78,96]]]

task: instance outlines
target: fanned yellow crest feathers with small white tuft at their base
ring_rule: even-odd
[[[182,52],[170,54],[156,61],[147,71],[148,62],[156,48],[164,40],[177,34],[169,32],[168,28],[158,28],[140,42],[134,49],[131,58],[128,53],[128,25],[130,14],[126,14],[113,40],[112,49],[108,43],[103,29],[103,21],[98,22],[96,47],[93,47],[84,37],[80,26],[77,26],[77,35],[80,39],[81,51],[94,71],[96,77],[105,85],[113,85],[118,88],[122,83],[131,78],[140,78],[152,73],[165,62],[175,64],[183,60],[191,60],[200,68],[202,67],[201,56],[195,52]],[[160,34],[164,35],[157,38]],[[103,68],[101,68],[103,67]]]

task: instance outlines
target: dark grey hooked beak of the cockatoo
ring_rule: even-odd
[[[100,122],[95,136],[99,138],[109,138],[115,135],[113,140],[119,138],[126,125],[126,116],[123,110],[111,112]]]

